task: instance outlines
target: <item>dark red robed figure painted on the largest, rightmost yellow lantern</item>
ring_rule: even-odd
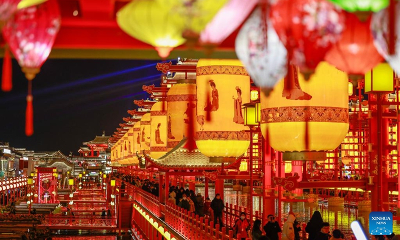
[[[290,65],[287,69],[287,75],[284,77],[284,86],[282,97],[289,100],[309,100],[312,96],[301,90],[298,82],[298,69],[294,65]]]

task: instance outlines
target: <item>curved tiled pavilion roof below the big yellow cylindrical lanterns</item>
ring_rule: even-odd
[[[192,150],[186,148],[186,143],[187,138],[183,138],[177,146],[159,159],[153,159],[146,154],[144,156],[148,163],[153,164],[159,169],[210,170],[221,167],[221,163],[219,162],[209,162],[208,156],[203,155],[197,148]],[[224,163],[225,166],[231,164],[234,163]]]

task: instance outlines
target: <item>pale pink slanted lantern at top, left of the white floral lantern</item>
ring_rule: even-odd
[[[229,0],[200,33],[200,43],[219,45],[250,14],[258,0]]]

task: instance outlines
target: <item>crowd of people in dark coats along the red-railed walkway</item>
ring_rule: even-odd
[[[158,196],[158,183],[154,181],[140,179],[138,176],[131,176],[118,172],[113,173],[113,176]],[[122,182],[121,189],[123,188],[124,183]],[[187,211],[194,212],[200,217],[205,217],[210,220],[213,219],[214,227],[216,224],[219,224],[220,227],[223,226],[222,212],[224,203],[219,193],[216,193],[211,201],[208,196],[204,199],[201,193],[195,193],[192,189],[169,186],[168,202]],[[300,240],[301,226],[296,220],[294,212],[288,212],[287,219],[282,227],[272,214],[267,216],[267,220],[268,221],[262,226],[261,220],[256,219],[251,226],[250,220],[246,217],[246,213],[240,212],[239,218],[235,220],[232,226],[233,235],[234,237],[239,236],[238,240],[245,240],[247,237],[251,237],[252,240],[279,240],[278,234],[281,233],[281,240]],[[323,221],[319,211],[314,211],[304,230],[308,233],[307,240],[346,239],[339,229],[333,229],[333,231],[330,232],[329,222]],[[392,233],[391,235],[376,235],[373,236],[373,238],[376,240],[400,240],[400,235]]]

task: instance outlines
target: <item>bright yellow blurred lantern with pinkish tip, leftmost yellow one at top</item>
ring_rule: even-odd
[[[117,12],[116,21],[127,34],[154,46],[158,55],[166,58],[173,47],[185,41],[169,15],[172,7],[157,0],[134,0]]]

